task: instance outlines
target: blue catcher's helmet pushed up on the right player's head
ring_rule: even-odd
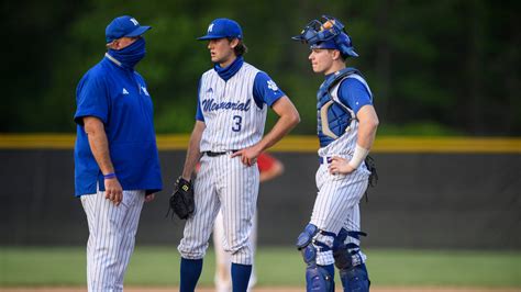
[[[322,15],[322,18],[324,22],[312,20],[306,25],[300,35],[291,38],[309,44],[311,49],[333,48],[339,49],[343,56],[358,57],[344,25],[332,16]]]

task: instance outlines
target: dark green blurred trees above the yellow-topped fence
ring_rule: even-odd
[[[0,132],[75,131],[75,89],[102,58],[104,27],[131,14],[152,25],[137,70],[155,102],[158,133],[189,133],[197,82],[211,68],[196,41],[215,18],[244,31],[248,63],[268,72],[315,132],[315,91],[308,48],[290,40],[321,14],[339,18],[368,79],[380,134],[521,134],[519,1],[102,1],[2,3],[3,101]],[[268,127],[276,116],[268,117]]]

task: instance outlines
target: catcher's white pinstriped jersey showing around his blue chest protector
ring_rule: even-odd
[[[367,82],[365,81],[365,79],[362,76],[359,76],[357,74],[352,74],[352,75],[345,77],[345,79],[348,79],[348,78],[354,78],[354,79],[358,80],[359,82],[362,82],[362,85],[364,85],[364,87],[366,88],[367,93],[369,94],[370,99],[373,100],[373,93],[370,92],[369,86],[367,85]],[[331,90],[331,98],[340,104],[344,103],[339,99],[339,88],[342,86],[342,82],[344,80],[339,82],[339,85],[335,86]],[[343,105],[346,106],[345,104],[343,104]],[[346,131],[339,138],[333,141],[332,143],[330,143],[328,146],[320,148],[319,151],[318,151],[319,156],[326,157],[326,156],[339,155],[339,156],[353,157],[353,153],[354,153],[355,147],[356,147],[356,139],[357,139],[357,136],[358,136],[358,120],[354,119],[355,113],[351,109],[346,108],[346,110],[350,111],[351,115],[353,115],[353,119],[351,121],[351,125],[346,128]]]

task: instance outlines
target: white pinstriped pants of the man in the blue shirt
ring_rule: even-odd
[[[81,195],[89,223],[87,285],[93,291],[123,291],[123,277],[134,251],[145,191],[123,191],[119,206],[104,192]]]

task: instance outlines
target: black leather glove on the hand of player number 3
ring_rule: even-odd
[[[176,215],[181,218],[188,218],[196,207],[196,203],[193,201],[193,187],[191,182],[179,177],[174,186],[174,193],[170,196],[169,201],[170,207],[168,209],[168,214],[170,210],[176,213]]]

